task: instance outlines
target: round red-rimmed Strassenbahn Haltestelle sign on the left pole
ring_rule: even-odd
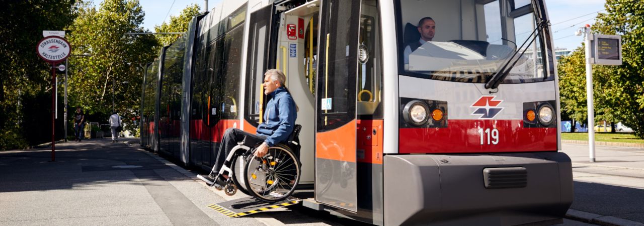
[[[67,40],[58,36],[48,36],[36,46],[38,57],[50,63],[62,62],[70,57],[71,46]]]

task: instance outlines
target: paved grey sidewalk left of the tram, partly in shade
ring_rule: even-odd
[[[128,141],[0,152],[0,225],[265,225],[209,209],[224,199]]]

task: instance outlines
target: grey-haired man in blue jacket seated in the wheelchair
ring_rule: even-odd
[[[223,162],[238,142],[245,136],[254,137],[263,143],[256,148],[255,156],[262,157],[269,147],[286,141],[295,127],[298,117],[297,105],[284,86],[286,76],[278,69],[269,69],[264,73],[264,94],[269,96],[269,102],[264,108],[264,121],[257,127],[257,134],[249,134],[238,128],[229,128],[222,137],[214,169],[220,169]],[[212,176],[212,175],[211,175]]]

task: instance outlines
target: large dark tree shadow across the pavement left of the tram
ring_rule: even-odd
[[[109,139],[56,144],[55,162],[51,160],[50,148],[0,152],[0,193],[101,186],[109,182],[140,184],[140,179],[164,179],[137,175],[169,168],[136,148],[111,143]]]

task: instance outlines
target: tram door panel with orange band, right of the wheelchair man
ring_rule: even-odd
[[[316,200],[354,212],[360,2],[322,1],[316,82]]]

